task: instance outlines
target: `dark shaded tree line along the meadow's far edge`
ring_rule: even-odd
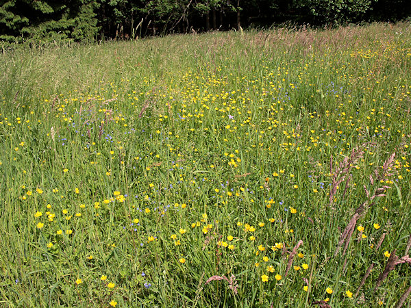
[[[0,40],[137,38],[410,16],[410,0],[0,0]]]

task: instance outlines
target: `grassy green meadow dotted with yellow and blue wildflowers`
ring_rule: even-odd
[[[0,55],[3,307],[410,307],[411,24]]]

